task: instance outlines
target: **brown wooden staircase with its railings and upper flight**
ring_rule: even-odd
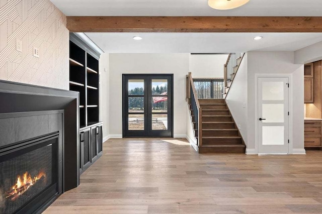
[[[197,89],[195,82],[209,82],[211,79],[193,79],[191,72],[187,75],[187,101],[190,106],[193,128],[199,153],[244,153],[246,144],[229,112],[225,97],[243,60],[244,53],[230,53],[224,65],[224,78],[221,87],[213,83],[202,85]],[[219,80],[216,80],[219,81]],[[221,80],[222,81],[222,80]],[[205,86],[205,87],[204,87]],[[224,87],[224,88],[223,88]],[[210,96],[209,94],[219,96]],[[206,94],[206,95],[204,95]],[[222,95],[222,96],[221,96]],[[218,99],[217,97],[222,97]],[[211,98],[211,99],[208,99]]]

